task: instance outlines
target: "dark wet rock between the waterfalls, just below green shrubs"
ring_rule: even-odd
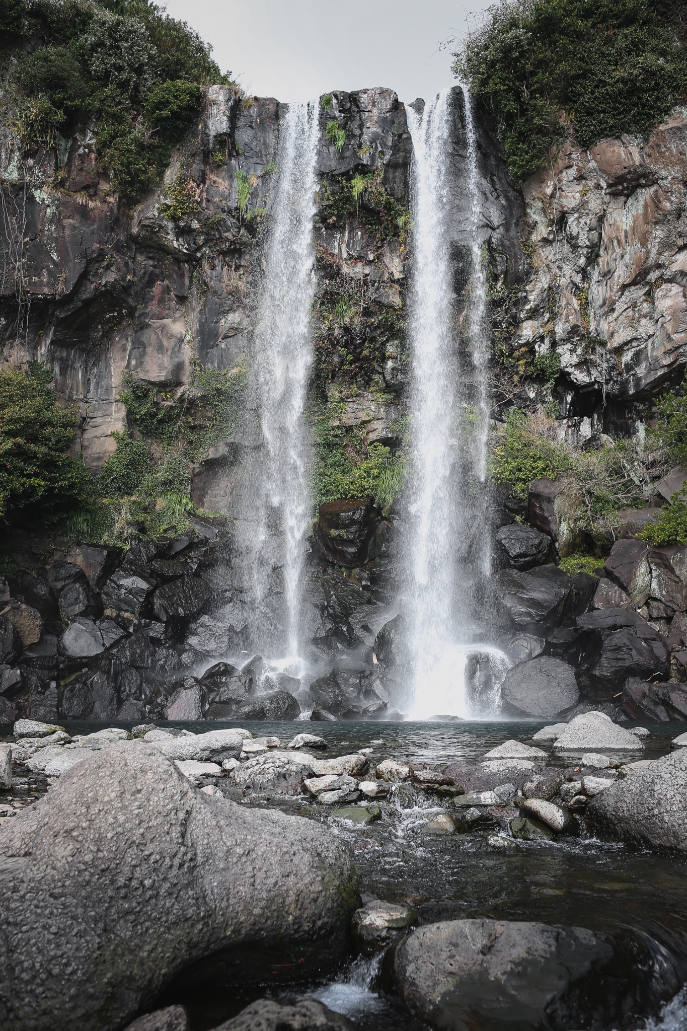
[[[319,506],[313,537],[328,562],[363,566],[374,558],[377,522],[370,498],[329,501]]]

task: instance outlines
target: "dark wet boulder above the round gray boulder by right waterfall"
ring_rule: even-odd
[[[491,585],[505,621],[533,634],[558,626],[571,590],[568,574],[552,565],[529,572],[502,569]]]

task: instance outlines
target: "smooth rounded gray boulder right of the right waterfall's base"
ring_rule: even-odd
[[[579,697],[572,666],[550,656],[511,666],[501,686],[502,703],[515,716],[548,720],[575,705]]]

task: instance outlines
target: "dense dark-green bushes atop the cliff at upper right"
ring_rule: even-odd
[[[572,130],[585,147],[646,134],[687,95],[681,0],[502,0],[455,55],[516,179]]]

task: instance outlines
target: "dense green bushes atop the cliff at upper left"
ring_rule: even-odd
[[[127,201],[167,167],[200,109],[229,84],[211,47],[151,0],[2,0],[5,117],[25,152],[95,122],[96,151]]]

